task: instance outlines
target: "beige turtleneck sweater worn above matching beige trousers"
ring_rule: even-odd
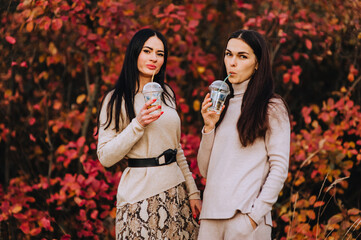
[[[271,99],[270,129],[243,147],[237,121],[248,83],[232,85],[234,97],[223,121],[211,132],[202,130],[198,166],[207,183],[200,218],[228,219],[240,211],[256,223],[272,225],[271,209],[288,174],[290,122],[283,102]]]

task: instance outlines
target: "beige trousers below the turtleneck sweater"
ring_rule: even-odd
[[[262,221],[253,229],[246,214],[230,219],[202,219],[198,240],[270,240],[272,228]]]

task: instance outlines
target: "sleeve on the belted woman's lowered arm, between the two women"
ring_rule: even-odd
[[[192,173],[189,170],[187,159],[184,156],[184,152],[183,152],[181,144],[179,144],[178,149],[177,149],[177,163],[178,163],[178,166],[181,169],[184,179],[186,181],[189,199],[201,199],[199,190],[196,186],[196,183],[194,181]]]

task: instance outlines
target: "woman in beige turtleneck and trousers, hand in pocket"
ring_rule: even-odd
[[[231,94],[221,115],[202,104],[198,166],[207,178],[198,239],[271,239],[271,209],[288,173],[290,121],[274,93],[267,45],[250,30],[231,34],[224,76]]]

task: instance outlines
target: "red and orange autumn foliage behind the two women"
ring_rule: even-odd
[[[113,239],[125,165],[97,160],[96,115],[144,27],[169,42],[182,144],[200,189],[200,102],[228,34],[261,32],[292,114],[274,239],[361,239],[359,0],[2,0],[0,239]]]

